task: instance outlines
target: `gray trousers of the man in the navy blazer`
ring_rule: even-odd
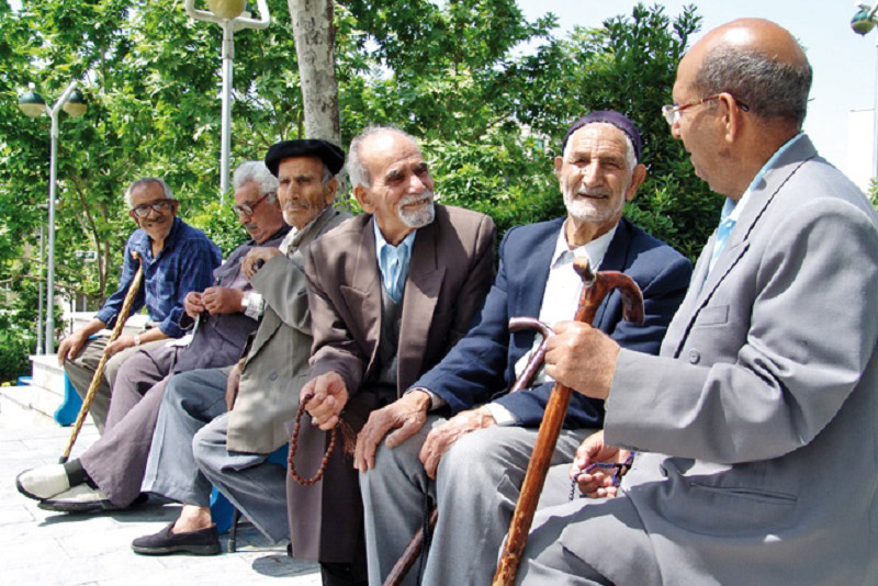
[[[537,430],[495,426],[461,436],[442,457],[434,483],[424,472],[418,452],[430,428],[441,421],[428,418],[417,435],[393,450],[380,446],[375,467],[360,475],[370,585],[382,584],[421,526],[427,494],[438,503],[439,520],[421,584],[491,584]],[[552,463],[572,462],[589,433],[562,431]],[[570,481],[562,477],[560,482],[560,486],[547,485],[543,495],[565,500]],[[417,574],[416,565],[403,584],[418,584]]]

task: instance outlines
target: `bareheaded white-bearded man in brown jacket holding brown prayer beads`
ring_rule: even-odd
[[[356,432],[466,333],[491,285],[495,227],[485,215],[436,205],[420,148],[396,128],[365,129],[348,156],[365,213],[308,249],[314,347],[302,402],[322,429],[345,409],[341,427]],[[302,430],[294,464],[303,476],[327,443]],[[357,472],[338,443],[322,483],[288,478],[293,553],[318,560],[324,584],[363,584]]]

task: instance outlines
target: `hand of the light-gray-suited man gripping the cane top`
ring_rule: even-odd
[[[610,393],[619,345],[581,322],[559,322],[549,338],[545,373],[577,393],[606,399]]]

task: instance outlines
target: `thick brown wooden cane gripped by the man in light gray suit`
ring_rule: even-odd
[[[617,271],[594,272],[587,259],[575,259],[573,268],[583,279],[583,291],[579,296],[579,307],[576,309],[576,322],[592,324],[595,319],[600,302],[614,289],[619,289],[622,295],[623,315],[628,322],[643,323],[643,295],[638,284],[627,274]],[[567,405],[573,390],[561,383],[555,383],[552,394],[545,406],[545,415],[537,433],[537,443],[533,454],[528,463],[521,494],[515,507],[509,532],[500,552],[497,572],[494,574],[493,586],[511,586],[525,550],[530,523],[540,498],[545,475],[552,462],[561,426],[567,413]]]

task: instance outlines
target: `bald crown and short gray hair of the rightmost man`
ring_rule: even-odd
[[[707,33],[680,68],[695,69],[693,89],[702,95],[729,92],[752,115],[799,131],[808,108],[811,66],[786,29],[762,19],[741,19]]]

